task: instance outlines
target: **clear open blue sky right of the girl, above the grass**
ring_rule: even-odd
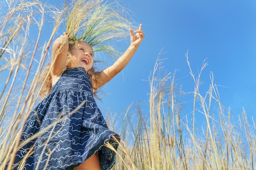
[[[225,107],[249,119],[256,110],[256,1],[253,0],[130,0],[122,2],[134,12],[145,33],[131,62],[104,88],[103,105],[110,111],[128,108],[133,101],[148,102],[147,81],[158,53],[167,73],[176,73],[178,86],[193,91],[185,53],[195,75],[207,59],[201,93],[210,85],[209,73]],[[222,87],[223,86],[223,87]],[[187,108],[188,112],[192,108]],[[147,110],[145,110],[147,111]],[[203,117],[203,115],[202,115]]]

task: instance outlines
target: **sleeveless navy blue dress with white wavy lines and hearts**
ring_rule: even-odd
[[[35,134],[35,139],[29,139]],[[98,152],[102,170],[109,170],[115,152],[104,144],[109,142],[117,149],[113,137],[119,139],[108,129],[95,103],[85,69],[67,68],[48,97],[30,113],[20,143],[31,141],[18,150],[14,169],[30,154],[24,170],[73,170]]]

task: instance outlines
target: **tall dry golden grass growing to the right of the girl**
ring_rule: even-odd
[[[209,90],[201,91],[203,62],[195,76],[186,54],[194,91],[178,87],[175,72],[166,74],[157,58],[149,80],[148,112],[133,103],[121,115],[121,143],[115,170],[253,170],[256,126],[245,110],[236,120],[221,104],[218,85],[209,74]],[[186,108],[186,109],[184,109]],[[198,115],[200,121],[197,122]],[[117,116],[109,115],[109,120]],[[110,123],[115,124],[115,121]],[[198,127],[197,125],[201,127]]]

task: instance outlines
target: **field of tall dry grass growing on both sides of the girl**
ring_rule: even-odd
[[[13,159],[10,155],[19,146],[23,120],[40,100],[38,79],[65,13],[39,1],[1,3],[0,170]],[[42,37],[45,27],[51,29],[47,38]],[[184,64],[190,68],[194,91],[185,92],[178,86],[175,72],[166,74],[161,56],[151,57],[157,60],[148,80],[148,109],[135,101],[124,113],[106,118],[121,136],[113,170],[256,169],[254,120],[248,120],[245,110],[236,119],[231,109],[222,105],[213,73],[209,74],[209,89],[201,91],[200,75],[207,62],[195,75],[186,54]],[[198,115],[204,117],[203,123],[198,122]],[[117,116],[122,122],[113,126]]]

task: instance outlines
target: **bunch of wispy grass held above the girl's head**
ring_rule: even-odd
[[[66,22],[70,42],[87,42],[94,52],[101,51],[112,60],[120,54],[113,40],[127,38],[127,30],[134,24],[126,9],[116,1],[103,0],[76,1],[66,8]]]

